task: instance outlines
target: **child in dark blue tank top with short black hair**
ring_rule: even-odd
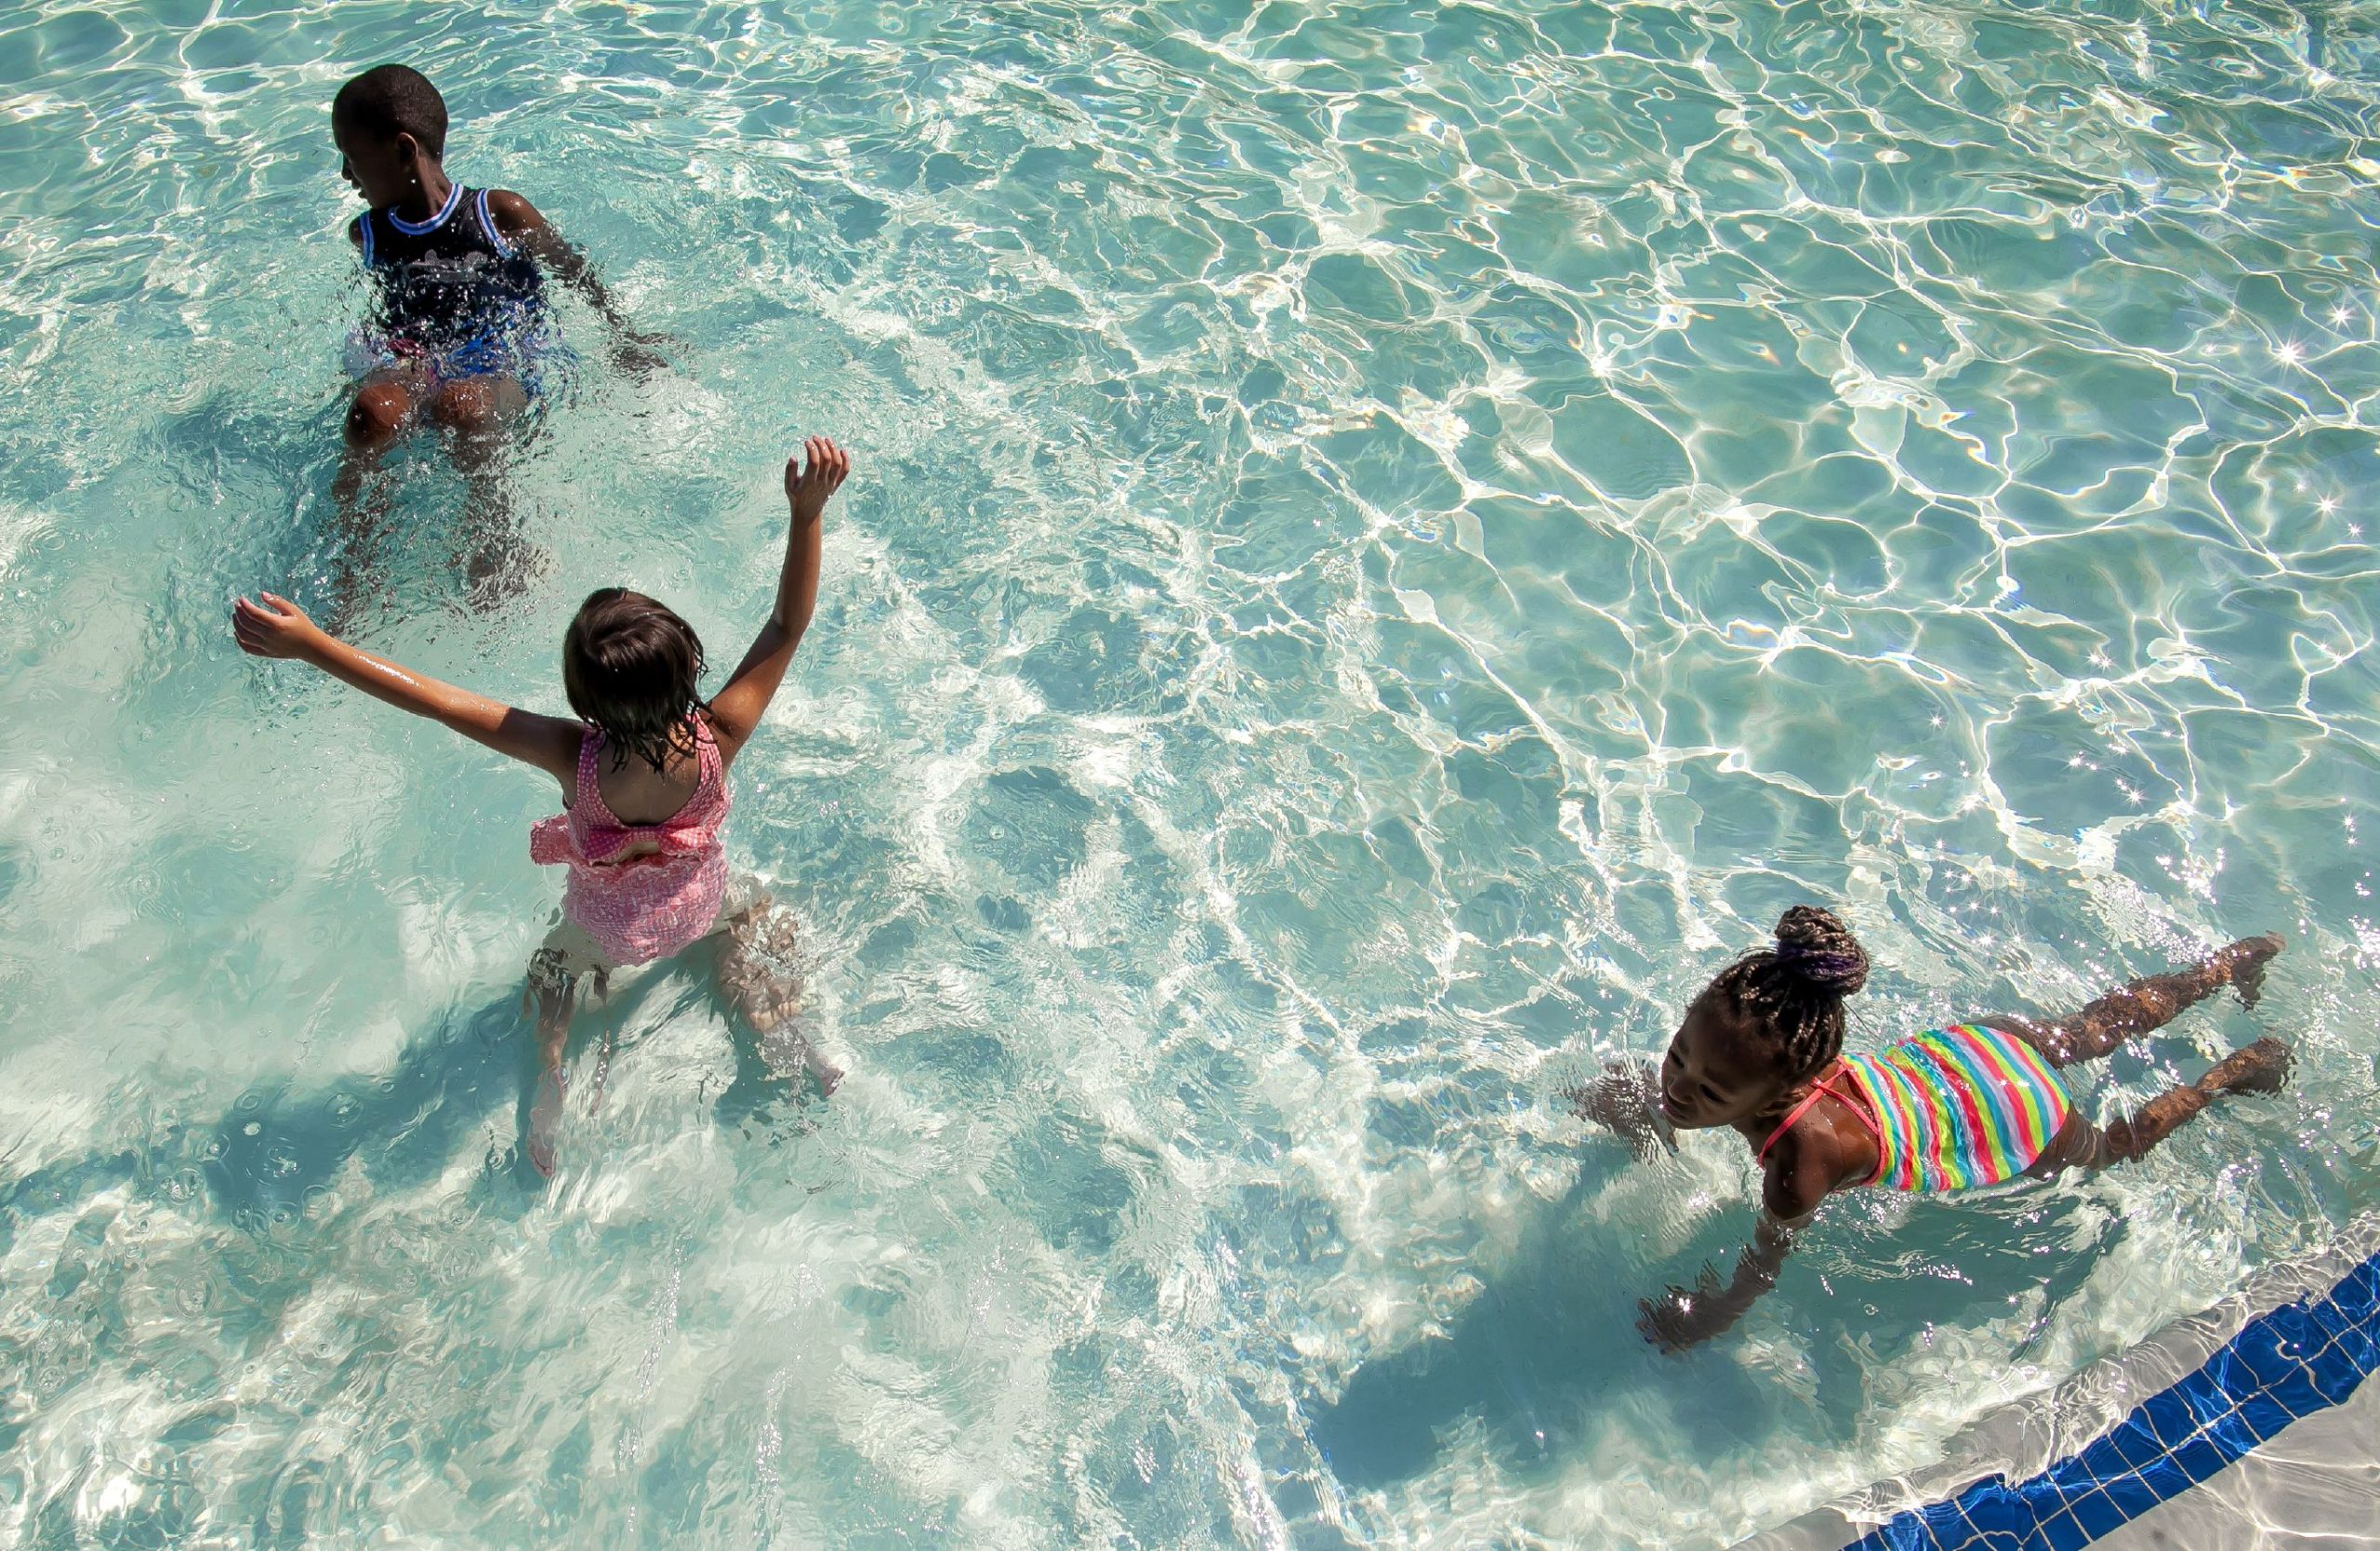
[[[359,526],[364,473],[424,421],[455,433],[457,464],[486,485],[495,433],[538,390],[538,357],[550,350],[540,266],[578,288],[612,324],[624,366],[654,359],[643,347],[657,335],[628,328],[585,257],[536,205],[507,188],[447,178],[445,131],[438,88],[402,64],[367,69],[331,102],[340,176],[371,207],[347,224],[347,240],[378,290],[338,476],[338,507],[350,526]],[[478,490],[474,507],[493,516],[493,490]],[[478,542],[469,561],[474,588],[495,580],[502,550],[500,540]]]

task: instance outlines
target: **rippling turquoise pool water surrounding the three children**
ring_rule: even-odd
[[[588,359],[474,614],[731,659],[828,1101],[704,973],[514,1156],[533,778],[240,659],[321,597],[381,59],[681,366]],[[12,1544],[1716,1546],[1935,1458],[2380,1185],[2380,10],[19,5],[0,19],[0,1525]],[[1854,1037],[2292,935],[2140,1168],[1749,1223],[1559,1087],[1790,902]],[[600,1092],[600,1104],[593,1094]],[[593,1109],[590,1109],[593,1104]]]

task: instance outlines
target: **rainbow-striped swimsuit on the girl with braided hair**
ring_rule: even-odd
[[[2042,1051],[1997,1028],[1954,1023],[1842,1066],[1875,1116],[1868,1185],[2002,1185],[2033,1168],[2073,1113]]]

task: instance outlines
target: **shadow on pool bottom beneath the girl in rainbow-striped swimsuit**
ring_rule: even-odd
[[[2047,1299],[2033,1325],[2037,1335],[2125,1232],[2111,1220],[2078,1249],[2071,1213],[2047,1194],[1985,1211],[1973,1201],[1964,1211],[1928,1201],[1890,1232],[1899,1268],[1878,1266],[1856,1287],[1844,1287],[1840,1266],[1816,1266],[1804,1254],[1768,1294],[1787,1308],[1766,1311],[1790,1313],[1809,1361],[1809,1382],[1787,1384],[1742,1363],[1742,1327],[1685,1354],[1661,1354],[1635,1323],[1637,1299],[1690,1282],[1704,1261],[1733,1266],[1749,1216],[1711,1213],[1671,1261],[1580,1275],[1597,1256],[1614,1258],[1609,1225],[1587,1220],[1578,1206],[1618,1166],[1590,1158],[1578,1185],[1523,1235],[1509,1270],[1488,1280],[1445,1335],[1364,1363],[1335,1401],[1309,1404],[1309,1437],[1340,1487],[1385,1492],[1426,1475],[1466,1420],[1521,1480],[1592,1468],[1597,1442],[1616,1420],[1628,1425],[1626,1418],[1673,1434],[1673,1446],[1695,1461],[1766,1449],[1780,1434],[1802,1446],[1849,1446],[1875,1420],[1878,1368],[1925,1346],[1942,1323],[2004,1318],[2021,1289]],[[1837,1230],[1875,1232],[1849,1223]],[[1828,1223],[1816,1232],[1828,1232]],[[2056,1247],[2047,1261],[2044,1244]],[[1964,1280],[1904,1270],[1918,1263],[1954,1263]],[[2011,1363],[2023,1361],[2030,1339],[2009,1351]]]

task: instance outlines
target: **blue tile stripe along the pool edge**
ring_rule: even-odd
[[[2023,1482],[1992,1475],[1844,1551],[2073,1551],[2223,1470],[2380,1368],[2380,1254],[2318,1304],[2249,1320],[2192,1375]]]

